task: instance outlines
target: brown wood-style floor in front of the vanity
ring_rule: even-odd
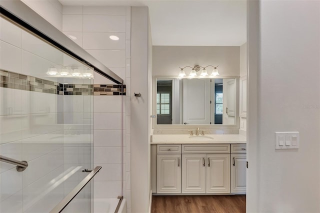
[[[245,212],[245,195],[152,196],[152,213]]]

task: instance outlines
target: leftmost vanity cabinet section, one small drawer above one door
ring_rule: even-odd
[[[181,193],[181,145],[157,145],[156,192]]]

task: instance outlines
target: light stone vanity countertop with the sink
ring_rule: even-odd
[[[185,144],[185,143],[246,143],[246,137],[241,134],[152,134],[151,144]]]

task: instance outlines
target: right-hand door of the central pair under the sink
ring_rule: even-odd
[[[207,154],[206,160],[206,193],[229,193],[230,154]]]

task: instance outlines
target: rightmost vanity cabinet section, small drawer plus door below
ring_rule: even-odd
[[[246,145],[231,144],[231,193],[246,191]]]

